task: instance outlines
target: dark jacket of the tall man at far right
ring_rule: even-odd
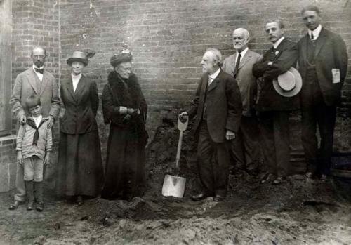
[[[307,34],[298,41],[298,67],[303,78],[303,84],[306,82],[307,41],[309,38]],[[347,72],[345,42],[338,34],[322,28],[317,39],[314,54],[318,83],[324,102],[329,106],[337,105],[340,102],[341,88]],[[331,69],[340,69],[340,83],[333,84]],[[301,89],[300,97],[302,102],[304,98],[310,97],[304,86]]]

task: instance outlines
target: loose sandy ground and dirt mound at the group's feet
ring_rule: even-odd
[[[191,201],[199,183],[189,134],[180,163],[185,197],[162,197],[178,140],[173,126],[165,120],[149,145],[143,198],[97,198],[77,206],[47,189],[39,213],[25,205],[9,211],[13,192],[2,193],[0,244],[351,244],[350,180],[322,183],[295,175],[282,185],[260,185],[260,176],[235,173],[225,201]]]

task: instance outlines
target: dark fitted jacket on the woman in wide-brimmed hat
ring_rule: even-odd
[[[65,114],[60,120],[60,131],[67,134],[97,131],[95,116],[99,97],[95,82],[82,74],[74,92],[72,78],[69,78],[61,82],[60,93],[65,106]]]

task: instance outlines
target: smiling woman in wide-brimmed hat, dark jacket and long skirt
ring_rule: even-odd
[[[74,51],[67,59],[72,73],[61,82],[65,113],[60,119],[58,194],[83,204],[84,197],[96,197],[102,185],[102,159],[98,125],[98,89],[81,72],[95,52]]]

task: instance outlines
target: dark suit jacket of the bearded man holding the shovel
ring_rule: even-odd
[[[234,77],[222,70],[208,85],[208,74],[201,77],[195,99],[187,110],[190,119],[196,117],[195,132],[199,128],[206,100],[206,122],[208,133],[216,143],[225,142],[227,130],[237,132],[242,113],[242,103],[239,87]],[[207,93],[206,93],[207,91]]]

